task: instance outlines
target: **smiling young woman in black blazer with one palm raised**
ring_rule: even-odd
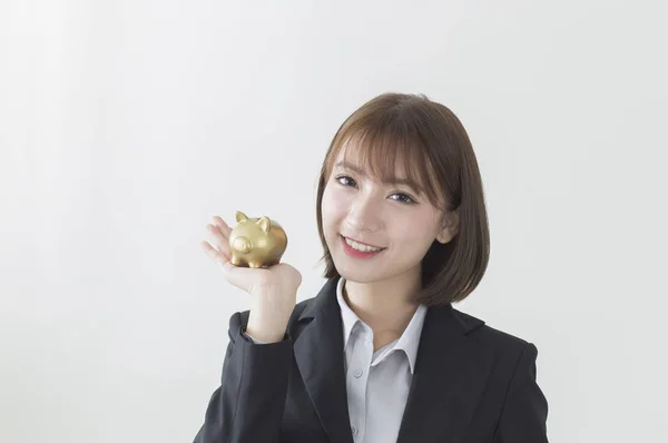
[[[296,304],[298,270],[229,263],[214,217],[204,249],[250,294],[197,443],[547,442],[538,350],[452,307],[489,258],[471,142],[445,106],[384,93],[326,154],[317,227],[327,279]]]

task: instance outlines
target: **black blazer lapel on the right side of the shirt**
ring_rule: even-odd
[[[429,308],[397,443],[461,441],[493,364],[466,337],[483,324],[451,304]]]

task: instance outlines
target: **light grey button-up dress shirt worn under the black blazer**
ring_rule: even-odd
[[[373,351],[373,331],[343,298],[345,279],[336,285],[343,323],[345,384],[355,443],[395,442],[415,368],[426,306],[420,305],[394,342]],[[246,334],[247,335],[247,334]],[[263,344],[247,335],[256,344]]]

